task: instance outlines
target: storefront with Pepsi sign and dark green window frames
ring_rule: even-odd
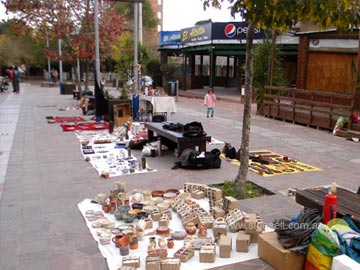
[[[161,32],[161,63],[179,65],[183,89],[240,89],[244,83],[247,29],[244,22],[207,22],[181,31]],[[265,36],[263,30],[256,28],[254,43],[262,42]],[[297,44],[298,39],[294,37],[281,42],[291,81],[296,76]]]

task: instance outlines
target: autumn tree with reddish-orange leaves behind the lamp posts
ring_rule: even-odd
[[[92,0],[2,0],[7,13],[31,27],[39,39],[62,40],[62,56],[47,48],[44,57],[53,61],[69,61],[75,67],[77,59],[85,66],[85,88],[88,86],[90,65],[95,60],[94,1]],[[111,45],[121,35],[123,18],[109,3],[99,1],[100,56],[111,53]],[[21,29],[18,29],[21,31]],[[74,69],[75,70],[75,69]],[[81,83],[75,72],[78,88]]]

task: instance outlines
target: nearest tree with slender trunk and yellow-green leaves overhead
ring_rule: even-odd
[[[202,0],[204,9],[221,8],[225,0]],[[249,167],[251,103],[253,93],[253,37],[255,27],[284,32],[296,22],[311,21],[320,27],[334,25],[348,30],[360,22],[360,1],[353,0],[227,0],[230,13],[249,23],[246,37],[245,103],[240,147],[240,168],[235,178],[236,190],[245,193]]]

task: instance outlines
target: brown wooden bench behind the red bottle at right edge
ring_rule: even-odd
[[[324,187],[297,190],[295,200],[298,204],[305,207],[316,208],[322,213],[325,195],[328,192],[329,189]],[[341,218],[345,214],[349,214],[355,223],[360,226],[360,194],[337,187],[337,197],[337,217]]]

